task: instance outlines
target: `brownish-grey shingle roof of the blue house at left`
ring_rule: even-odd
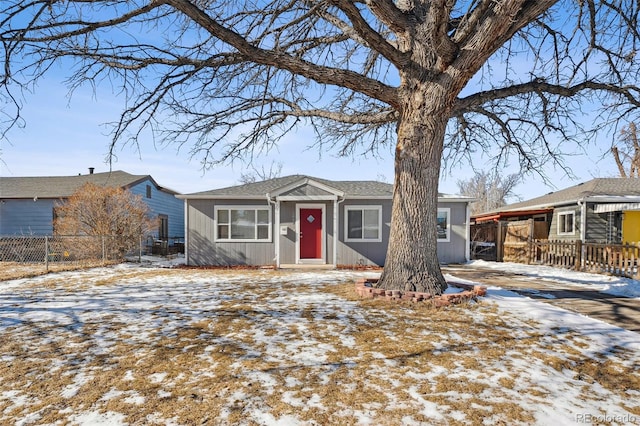
[[[145,179],[153,181],[151,176],[121,170],[77,176],[0,177],[0,198],[65,198],[87,182],[129,188]]]

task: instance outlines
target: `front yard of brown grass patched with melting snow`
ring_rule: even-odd
[[[0,424],[640,422],[636,333],[566,311],[538,322],[539,302],[496,290],[440,310],[359,300],[369,275],[115,266],[0,282]]]

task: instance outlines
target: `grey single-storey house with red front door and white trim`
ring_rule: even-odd
[[[185,200],[189,265],[379,265],[389,241],[393,186],[293,175]],[[471,198],[441,195],[438,257],[469,259]]]

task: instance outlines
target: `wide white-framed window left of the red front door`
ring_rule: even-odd
[[[268,207],[216,208],[216,240],[270,241],[271,210]]]

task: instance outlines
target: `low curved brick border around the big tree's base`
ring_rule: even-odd
[[[356,293],[366,299],[384,298],[389,301],[406,301],[406,302],[428,302],[435,307],[449,306],[476,300],[487,294],[487,288],[481,285],[465,284],[456,281],[447,281],[452,287],[462,288],[460,293],[443,294],[433,296],[429,293],[418,291],[401,291],[401,290],[385,290],[383,288],[374,288],[373,285],[378,282],[378,278],[361,278],[356,281]]]

